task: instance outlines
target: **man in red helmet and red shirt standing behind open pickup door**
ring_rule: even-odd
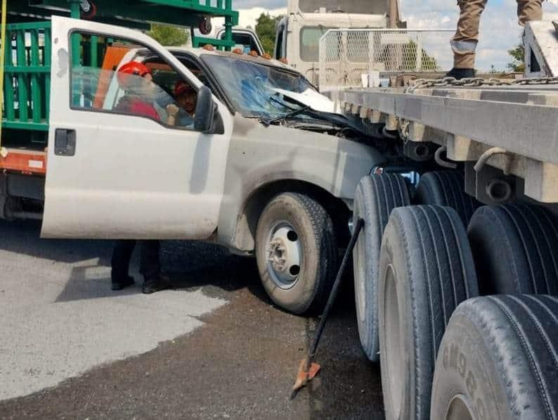
[[[161,118],[153,98],[155,84],[153,76],[143,63],[131,61],[117,71],[118,84],[126,92],[114,110],[129,115],[141,115],[160,121]],[[169,115],[170,120],[170,115]],[[140,273],[143,275],[143,293],[153,293],[168,288],[169,282],[161,274],[160,241],[139,241]],[[131,255],[136,247],[135,240],[118,240],[112,250],[110,261],[112,290],[121,290],[134,284],[134,277],[128,274]]]

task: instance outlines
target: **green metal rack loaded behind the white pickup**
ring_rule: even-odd
[[[84,4],[89,4],[88,13]],[[238,11],[232,0],[8,0],[8,25],[4,55],[4,104],[2,129],[31,130],[34,137],[48,131],[48,103],[51,72],[51,15],[67,15],[96,22],[148,30],[150,23],[198,27],[208,18],[225,18],[225,39],[193,37],[193,46],[212,44],[220,49],[234,46],[232,27]],[[90,50],[91,61],[98,56],[94,39],[81,48]],[[85,63],[82,63],[85,64]]]

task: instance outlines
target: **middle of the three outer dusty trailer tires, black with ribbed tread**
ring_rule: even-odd
[[[397,208],[379,257],[379,349],[386,419],[428,419],[436,354],[450,316],[478,288],[455,210]]]

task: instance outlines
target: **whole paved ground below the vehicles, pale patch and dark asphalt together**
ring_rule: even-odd
[[[271,305],[254,262],[166,242],[173,289],[110,291],[110,241],[39,240],[0,222],[0,419],[383,419],[379,367],[360,349],[349,283],[316,327]]]

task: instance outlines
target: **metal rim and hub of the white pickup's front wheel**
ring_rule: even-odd
[[[277,222],[270,230],[266,246],[266,264],[271,279],[280,288],[296,284],[301,269],[302,247],[297,232],[289,222]]]

